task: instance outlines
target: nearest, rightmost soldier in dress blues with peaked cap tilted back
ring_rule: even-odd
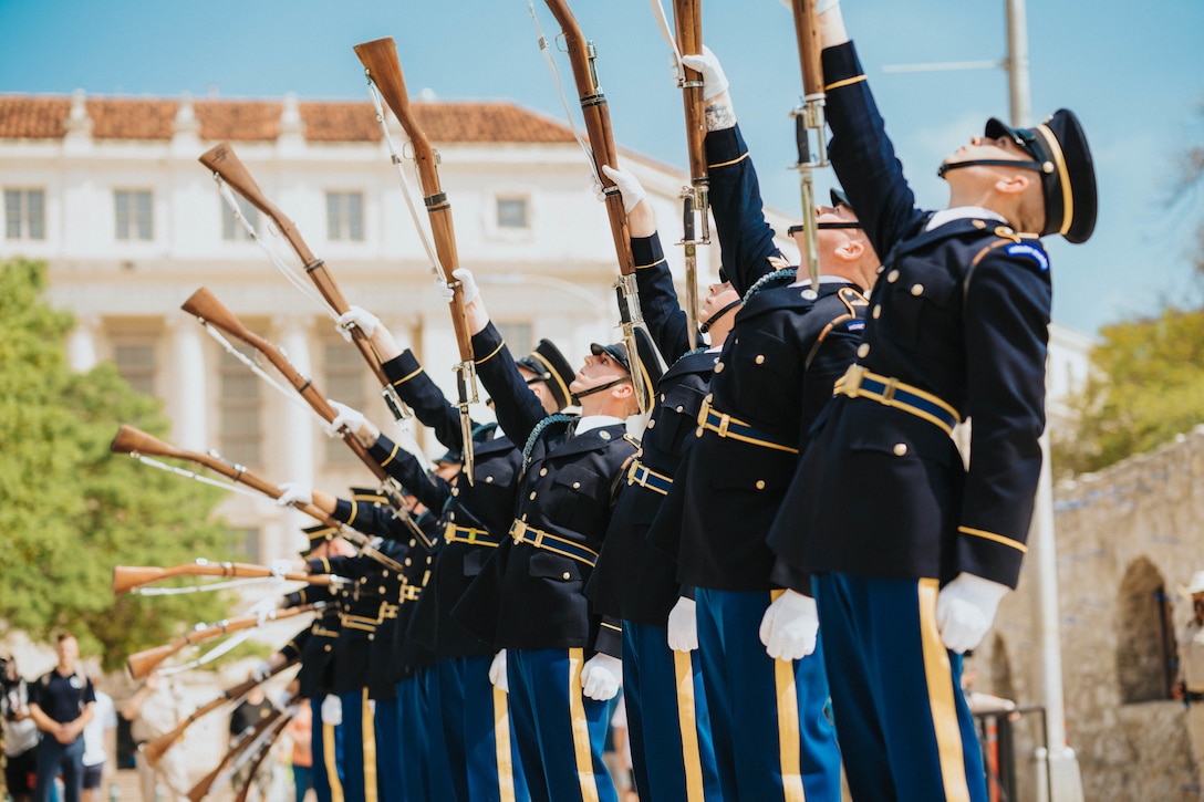
[[[857,361],[771,544],[815,572],[854,796],[985,800],[961,655],[1015,586],[1033,512],[1051,299],[1038,237],[1090,236],[1094,173],[1070,112],[1027,129],[992,119],[939,171],[949,208],[915,208],[839,6],[826,5],[830,155],[885,260]],[[950,437],[967,417],[968,468]]]

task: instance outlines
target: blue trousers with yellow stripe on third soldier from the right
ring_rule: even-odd
[[[641,796],[722,800],[698,653],[669,649],[665,626],[624,621],[622,697]]]

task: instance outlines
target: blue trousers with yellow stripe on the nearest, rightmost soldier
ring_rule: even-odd
[[[937,630],[937,580],[833,573],[814,584],[852,796],[986,802],[962,657]]]

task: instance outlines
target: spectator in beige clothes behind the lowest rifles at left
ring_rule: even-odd
[[[188,802],[184,792],[189,788],[188,766],[184,762],[184,750],[176,744],[163,753],[154,766],[142,753],[142,744],[176,729],[187,715],[183,701],[175,685],[158,671],[147,674],[134,696],[122,704],[122,718],[131,723],[130,735],[137,747],[134,753],[134,765],[138,769],[138,785],[143,800],[159,802]],[[158,794],[159,779],[163,779],[165,794]]]

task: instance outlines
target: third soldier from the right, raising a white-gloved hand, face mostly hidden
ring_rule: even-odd
[[[647,539],[707,394],[739,295],[720,271],[698,320],[710,347],[690,350],[686,316],[638,179],[603,167],[627,211],[639,303],[660,353],[671,361],[656,384],[641,450],[619,485],[602,553],[586,595],[595,609],[622,619],[622,694],[636,789],[649,800],[720,800],[701,662],[669,647],[668,617],[678,601],[677,561]],[[692,627],[691,627],[692,630]]]

